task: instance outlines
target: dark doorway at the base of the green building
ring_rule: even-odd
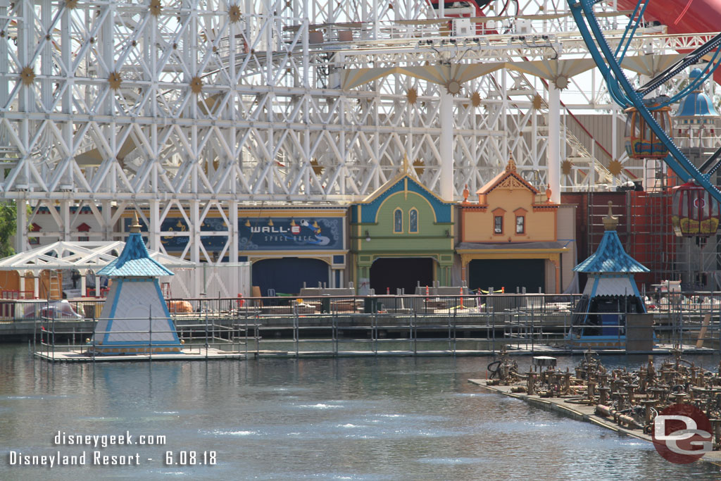
[[[396,294],[397,288],[415,294],[415,286],[433,286],[433,259],[429,257],[381,257],[371,265],[371,288],[376,294]]]

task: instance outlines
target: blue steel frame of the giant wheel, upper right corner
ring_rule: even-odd
[[[653,0],[646,0],[646,2],[647,1]],[[655,89],[655,87],[658,87],[663,82],[671,79],[673,75],[683,71],[686,66],[698,62],[700,58],[712,50],[717,50],[718,45],[721,44],[721,34],[716,35],[707,43],[702,45],[702,47],[699,47],[689,53],[683,60],[674,64],[669,69],[666,69],[666,71],[657,76],[656,79],[653,79],[645,86],[637,90],[632,87],[631,82],[627,78],[626,74],[624,74],[624,71],[620,66],[621,62],[614,55],[609,43],[606,42],[606,37],[603,37],[601,26],[598,24],[598,19],[596,19],[596,15],[593,13],[593,4],[598,2],[592,0],[567,0],[567,3],[573,18],[575,19],[576,25],[578,25],[578,30],[580,30],[580,33],[583,36],[583,40],[585,41],[590,55],[596,62],[596,66],[598,66],[601,74],[603,74],[603,78],[606,79],[609,92],[611,93],[611,97],[614,98],[614,101],[619,103],[619,105],[622,105],[622,107],[636,108],[653,133],[655,133],[658,137],[658,140],[668,148],[668,156],[666,156],[663,161],[668,164],[668,167],[670,167],[673,172],[676,172],[676,175],[678,175],[681,180],[684,182],[693,180],[699,186],[704,187],[704,189],[707,190],[713,198],[721,203],[721,191],[709,180],[711,174],[721,167],[721,160],[719,160],[721,157],[721,149],[716,151],[715,154],[707,160],[707,162],[704,162],[701,169],[697,169],[694,164],[691,163],[691,161],[689,161],[689,159],[687,159],[686,156],[678,149],[678,146],[676,146],[673,139],[668,136],[668,133],[661,128],[655,120],[649,107],[647,107],[643,100],[643,94],[651,92]],[[634,11],[634,14],[631,16],[629,21],[629,27],[627,28],[627,33],[630,31],[630,35],[627,40],[629,43],[632,34],[636,29],[636,26],[632,26],[634,17],[640,17],[643,13],[643,11],[640,11],[639,9],[641,4],[642,0],[639,1],[639,6],[637,6],[637,9]],[[626,35],[624,35],[624,39],[626,39]],[[718,66],[719,63],[715,61],[717,57],[718,50],[715,54],[714,60],[709,65],[710,71],[704,76],[704,79],[708,78],[708,76],[710,76],[710,74],[713,73],[713,70]],[[688,89],[684,90],[687,91]],[[678,97],[679,96],[676,96],[674,100]]]

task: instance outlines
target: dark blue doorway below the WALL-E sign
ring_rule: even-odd
[[[306,283],[307,287],[318,287],[319,282],[328,282],[328,265],[319,259],[283,257],[253,262],[253,286],[260,287],[262,296],[269,289],[275,294],[298,294]]]

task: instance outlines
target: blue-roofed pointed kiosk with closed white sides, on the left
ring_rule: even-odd
[[[95,326],[94,354],[182,353],[158,277],[173,275],[152,260],[135,225],[120,257],[99,270],[112,279],[110,293]]]

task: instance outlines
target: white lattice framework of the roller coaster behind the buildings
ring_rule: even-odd
[[[492,2],[485,12],[503,15],[454,36],[439,19],[452,12],[425,0],[0,0],[0,197],[30,204],[32,216],[49,207],[53,240],[88,235],[72,231],[71,206],[91,209],[99,240],[122,237],[119,220],[136,209],[151,249],[162,250],[162,236],[178,235],[162,221],[181,215],[183,256],[196,262],[213,260],[203,219],[221,216],[228,230],[203,236],[225,237],[215,257],[234,262],[239,203],[343,205],[392,178],[404,158],[446,197],[482,186],[509,154],[546,185],[549,80],[522,65],[588,56],[564,2],[507,3]],[[618,18],[606,17],[609,31]],[[647,35],[633,48],[670,53],[702,37]],[[390,71],[341,88],[359,69],[482,63],[508,66],[450,97],[449,146],[443,84]],[[568,108],[618,114],[602,81],[568,80]],[[574,168],[584,174],[566,176],[565,187],[606,175],[593,159]],[[32,216],[19,212],[25,250]]]

